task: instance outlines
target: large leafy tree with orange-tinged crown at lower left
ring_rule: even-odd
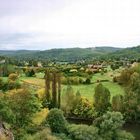
[[[40,108],[41,103],[36,96],[26,89],[0,96],[1,119],[11,125],[16,138],[26,133],[25,130],[32,123],[33,115]]]

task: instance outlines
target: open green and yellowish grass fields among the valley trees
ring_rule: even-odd
[[[40,88],[45,87],[45,81],[43,79],[44,74],[43,73],[37,73],[36,77],[20,77],[20,80],[22,82],[38,86]],[[101,75],[100,73],[94,74],[91,82],[92,84],[89,85],[84,85],[84,84],[79,84],[79,85],[71,85],[74,93],[79,91],[83,97],[86,97],[90,101],[93,100],[93,95],[94,95],[94,89],[96,87],[97,80],[108,80],[106,82],[102,82],[102,84],[107,87],[111,93],[111,97],[117,94],[124,94],[123,88],[118,85],[117,83],[112,82],[112,72],[105,73],[104,75]],[[62,85],[62,96],[66,93],[67,85]]]

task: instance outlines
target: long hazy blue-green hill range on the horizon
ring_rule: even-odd
[[[114,47],[94,47],[94,48],[66,48],[51,49],[45,51],[17,50],[0,51],[1,56],[13,57],[16,59],[36,59],[36,60],[56,60],[56,61],[76,61],[81,59],[98,58],[102,55],[113,53],[120,48]]]

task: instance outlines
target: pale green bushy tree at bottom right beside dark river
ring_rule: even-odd
[[[123,115],[120,112],[107,112],[93,121],[93,126],[99,129],[103,140],[134,140],[131,133],[121,129],[123,124]]]

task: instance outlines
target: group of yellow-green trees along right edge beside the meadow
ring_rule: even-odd
[[[112,99],[113,110],[124,114],[127,121],[140,120],[140,65],[125,69],[117,77],[117,82],[125,88],[125,95]]]

